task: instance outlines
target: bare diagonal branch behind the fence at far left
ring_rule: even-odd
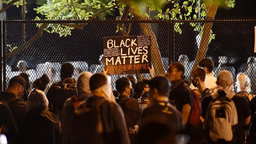
[[[35,42],[39,37],[41,37],[43,30],[46,26],[48,26],[47,23],[42,24],[40,26],[40,28],[38,29],[37,33],[28,42],[23,43],[20,48],[16,48],[9,54],[6,54],[6,59],[13,57],[15,54],[17,54],[17,53],[21,52],[22,50],[24,50],[25,48],[27,48],[30,44],[33,44],[33,42]]]

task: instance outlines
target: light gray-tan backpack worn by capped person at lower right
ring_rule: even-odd
[[[226,96],[218,96],[218,92],[211,93],[213,100],[210,102],[206,112],[206,133],[213,141],[233,139],[232,126],[238,123],[236,105],[232,98],[234,92]]]

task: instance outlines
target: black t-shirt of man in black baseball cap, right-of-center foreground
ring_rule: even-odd
[[[141,114],[139,129],[151,122],[165,124],[174,133],[184,130],[181,113],[167,102],[153,102],[152,106],[146,108]]]

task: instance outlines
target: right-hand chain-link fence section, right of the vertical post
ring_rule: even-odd
[[[254,26],[255,19],[174,20],[172,61],[184,64],[189,81],[196,57],[209,58],[214,62],[215,77],[221,70],[229,70],[236,81],[237,74],[243,72],[251,80],[252,94],[256,94]]]

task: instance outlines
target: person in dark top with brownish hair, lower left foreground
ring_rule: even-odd
[[[56,144],[59,120],[48,110],[48,100],[42,90],[33,89],[28,95],[28,113],[18,124],[19,144]]]

